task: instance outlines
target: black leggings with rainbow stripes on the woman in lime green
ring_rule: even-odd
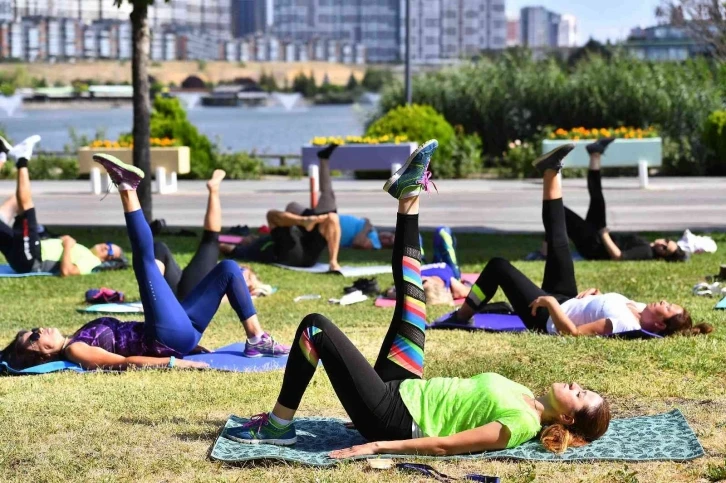
[[[398,215],[393,248],[396,310],[375,366],[330,320],[305,317],[298,327],[278,402],[300,405],[323,361],[333,389],[358,431],[370,441],[410,439],[413,419],[398,392],[423,372],[426,299],[421,284],[418,215]]]

